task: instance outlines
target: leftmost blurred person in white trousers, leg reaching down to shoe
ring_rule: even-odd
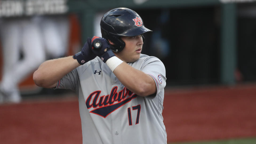
[[[1,24],[2,102],[21,101],[18,84],[45,60],[40,28],[31,18],[4,19]],[[22,52],[22,57],[21,57]]]

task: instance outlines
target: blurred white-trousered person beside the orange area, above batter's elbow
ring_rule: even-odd
[[[66,15],[38,16],[46,59],[66,56],[69,42],[69,19]]]

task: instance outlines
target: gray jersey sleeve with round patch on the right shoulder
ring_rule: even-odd
[[[157,92],[148,96],[148,98],[154,98],[166,86],[165,66],[158,58],[149,57],[143,62],[141,71],[150,75],[155,81]]]

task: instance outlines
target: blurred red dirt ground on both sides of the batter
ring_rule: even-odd
[[[256,85],[165,90],[168,142],[256,136]],[[75,96],[0,105],[0,143],[82,143]]]

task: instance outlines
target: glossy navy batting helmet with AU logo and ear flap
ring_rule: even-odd
[[[120,52],[125,47],[122,36],[142,35],[150,29],[144,26],[141,17],[133,10],[127,8],[117,8],[108,11],[101,19],[102,37],[115,43],[111,50]],[[142,35],[143,41],[144,37]]]

